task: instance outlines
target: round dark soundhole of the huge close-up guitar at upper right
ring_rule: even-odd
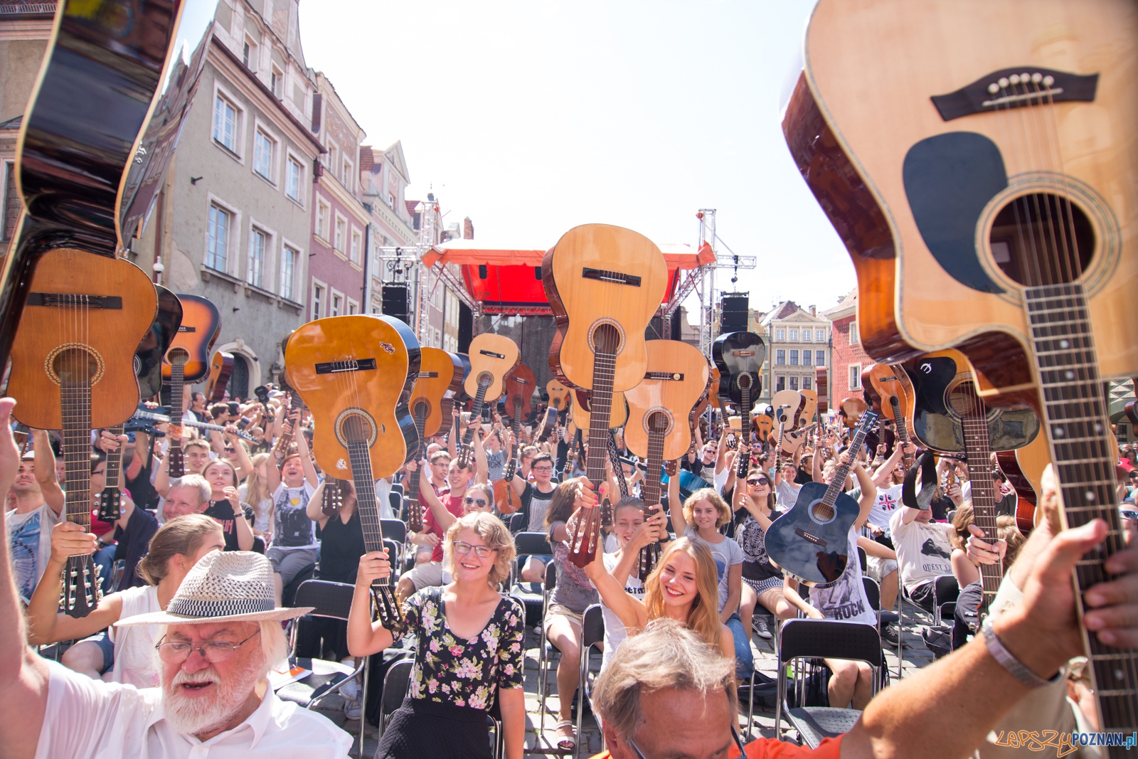
[[[1004,206],[989,236],[996,265],[1028,287],[1072,282],[1090,265],[1095,230],[1077,204],[1050,192]]]

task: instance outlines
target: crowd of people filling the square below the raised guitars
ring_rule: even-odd
[[[1005,569],[993,609],[1006,610],[989,633],[957,614],[951,647],[958,651],[926,668],[920,686],[906,678],[875,693],[868,665],[819,665],[826,685],[817,706],[865,711],[851,733],[817,754],[913,756],[920,743],[927,756],[965,756],[980,746],[983,756],[996,756],[997,748],[986,744],[989,731],[1031,724],[1040,692],[1063,724],[1094,724],[1092,709],[1078,706],[1087,704],[1086,678],[1072,675],[1082,671],[1071,661],[1082,646],[1070,567],[1103,539],[1103,527],[1061,534],[1045,519],[1025,538],[1012,517],[1016,496],[998,468],[997,509],[1005,515],[998,535],[986,535],[973,523],[964,462],[940,459],[935,492],[917,501],[906,497],[902,481],[905,456],[918,452],[888,443],[891,436],[853,449],[848,430],[830,424],[782,453],[767,440],[704,422],[693,452],[662,475],[665,494],[655,504],[641,497],[644,462],[619,437],[620,465],[607,468],[607,482],[589,482],[587,451],[572,452],[564,427],[543,439],[534,423],[526,439],[516,440],[509,418],[456,411],[448,435],[424,440],[411,463],[376,482],[381,518],[411,521],[402,494],[412,482],[423,511],[422,529],[409,528],[405,546],[390,555],[365,550],[351,481],[337,481],[338,506],[324,508],[330,481],[310,448],[322,420],[294,407],[281,390],[265,390],[208,407],[201,394],[191,394],[183,420],[215,423],[220,431],[165,424],[117,436],[92,431],[90,526],[64,519],[56,436],[32,430],[20,455],[8,416],[13,402],[0,401],[0,486],[8,494],[0,699],[9,715],[23,715],[7,721],[24,727],[14,734],[10,724],[0,725],[0,744],[13,746],[11,756],[181,757],[199,744],[221,756],[300,756],[302,748],[304,756],[345,756],[351,739],[277,699],[266,687],[269,673],[289,653],[355,667],[362,657],[402,649],[414,666],[378,757],[488,757],[489,713],[501,721],[505,756],[520,759],[526,630],[537,625],[560,654],[559,720],[543,740],[571,750],[580,740],[571,710],[583,618],[593,604],[602,608],[604,643],[592,703],[610,754],[727,756],[741,745],[736,706],[754,669],[752,637],[773,637],[787,619],[830,619],[880,627],[883,645],[896,646],[901,629],[891,610],[902,593],[931,611],[938,577],[954,576],[962,593],[975,593],[983,563]],[[541,418],[535,411],[525,422]],[[468,430],[471,452],[463,464]],[[170,472],[170,434],[182,435],[180,477]],[[518,508],[503,513],[494,485],[505,477],[516,443],[519,462],[506,487]],[[115,486],[106,481],[108,454],[122,455],[122,509],[113,523],[98,520],[99,494]],[[741,454],[750,456],[745,477],[736,477]],[[1122,515],[1131,536],[1138,529],[1135,456],[1129,446],[1120,449],[1120,472],[1129,472],[1120,481]],[[839,488],[859,506],[848,554],[864,554],[864,575],[852,560],[836,583],[800,586],[770,560],[765,534],[794,505],[802,484],[828,485],[839,476],[846,478]],[[582,569],[569,560],[575,519],[599,498],[610,501],[611,525],[595,560]],[[1040,509],[1056,498],[1052,486]],[[518,533],[544,535],[550,552],[519,556]],[[657,542],[659,560],[642,575],[642,548]],[[105,595],[76,619],[60,612],[59,595],[67,558],[86,553],[102,568]],[[1136,554],[1131,546],[1112,559],[1111,571],[1121,578],[1083,600],[1086,626],[1111,645],[1138,644]],[[545,583],[547,574],[544,616],[527,620],[514,591]],[[879,602],[871,603],[863,576],[879,585]],[[292,608],[297,586],[313,577],[354,585],[346,624]],[[377,581],[395,587],[405,625],[398,630],[373,619]],[[291,652],[282,626],[296,626]],[[987,653],[988,636],[998,636],[1042,683],[1034,706],[1024,706],[1030,699],[1023,696],[1040,683],[1013,677]],[[25,649],[64,642],[74,643],[58,665]],[[1061,668],[1065,676],[1056,675]],[[364,718],[362,691],[362,683],[343,688],[348,718]],[[1069,693],[1077,706],[1067,706]],[[938,709],[965,696],[966,719]],[[764,739],[741,750],[752,757],[806,753]]]

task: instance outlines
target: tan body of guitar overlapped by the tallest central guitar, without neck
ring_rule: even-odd
[[[637,456],[649,455],[649,431],[654,414],[666,421],[663,461],[679,459],[692,446],[691,414],[707,394],[711,368],[699,348],[679,340],[648,340],[648,374],[640,385],[625,391],[628,423],[625,445]]]

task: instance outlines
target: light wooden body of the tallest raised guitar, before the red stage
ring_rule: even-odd
[[[644,330],[667,287],[663,254],[643,234],[609,224],[566,232],[542,261],[542,284],[556,320],[550,369],[562,383],[592,390],[594,331],[619,333],[612,390],[640,385],[648,366]]]

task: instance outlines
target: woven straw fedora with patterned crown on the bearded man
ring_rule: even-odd
[[[115,626],[267,622],[313,610],[274,605],[273,566],[269,559],[251,551],[211,551],[190,569],[166,611],[127,617]]]

